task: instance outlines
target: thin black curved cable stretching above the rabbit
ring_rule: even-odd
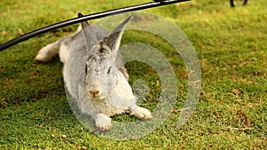
[[[0,45],[0,51],[4,51],[5,49],[11,47],[12,45],[14,45],[16,43],[20,43],[22,41],[26,41],[31,37],[38,36],[38,35],[44,34],[45,32],[49,32],[49,31],[52,31],[52,30],[57,29],[57,28],[63,28],[63,27],[66,27],[66,26],[69,26],[69,25],[72,25],[72,24],[75,24],[78,22],[85,21],[85,20],[95,20],[95,19],[99,19],[102,17],[115,15],[115,14],[119,14],[119,13],[134,12],[134,11],[144,10],[144,9],[148,9],[148,8],[152,8],[152,7],[158,7],[161,5],[181,3],[181,2],[186,2],[186,1],[190,1],[190,0],[154,0],[154,1],[155,2],[150,2],[147,4],[139,4],[139,5],[129,6],[129,7],[123,7],[123,8],[110,10],[110,11],[106,11],[106,12],[97,12],[97,13],[85,15],[84,17],[74,18],[74,19],[70,19],[70,20],[64,20],[64,21],[61,21],[59,23],[55,23],[53,25],[50,25],[50,26],[47,26],[44,28],[39,28],[39,29],[36,29],[32,32],[29,32],[28,34],[16,37],[16,38],[14,38],[14,39],[6,42],[6,43],[1,44]]]

